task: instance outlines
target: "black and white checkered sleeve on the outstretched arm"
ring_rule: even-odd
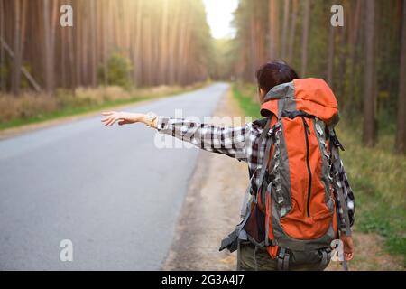
[[[158,117],[157,130],[208,152],[226,154],[245,161],[248,126],[213,126],[183,118]]]

